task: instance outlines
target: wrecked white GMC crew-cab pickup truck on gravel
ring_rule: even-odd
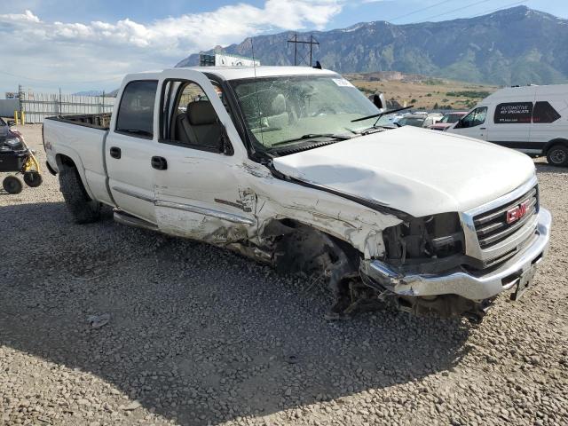
[[[381,299],[481,319],[502,291],[522,295],[548,249],[551,217],[529,157],[384,127],[377,106],[331,71],[127,75],[114,105],[112,116],[43,125],[77,223],[106,204],[119,223],[326,280],[332,317]]]

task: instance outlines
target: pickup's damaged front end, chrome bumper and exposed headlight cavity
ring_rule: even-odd
[[[467,256],[457,213],[417,218],[384,230],[385,255],[362,260],[360,276],[402,311],[479,321],[502,291],[517,287],[515,299],[528,287],[548,249],[550,224],[548,210],[540,209],[533,236],[516,256],[488,264]]]

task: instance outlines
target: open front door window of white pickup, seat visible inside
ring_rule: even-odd
[[[177,88],[173,101],[164,106],[168,117],[162,142],[221,153],[225,151],[225,130],[205,91],[193,82],[168,82]],[[217,89],[216,89],[217,91]],[[222,99],[222,93],[217,92]],[[168,98],[164,97],[166,102]],[[226,151],[225,151],[226,152]]]

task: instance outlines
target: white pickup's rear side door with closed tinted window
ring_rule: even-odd
[[[106,172],[116,205],[154,224],[154,170],[150,159],[156,144],[157,87],[157,80],[135,80],[124,86],[105,143]]]

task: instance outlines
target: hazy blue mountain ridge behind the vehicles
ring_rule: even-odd
[[[379,20],[298,37],[310,34],[320,43],[314,59],[342,73],[400,71],[491,84],[568,82],[568,20],[525,6],[443,22]],[[289,36],[256,36],[256,57],[264,65],[293,64]],[[250,56],[250,42],[225,51]],[[177,67],[198,63],[199,55],[193,54]]]

